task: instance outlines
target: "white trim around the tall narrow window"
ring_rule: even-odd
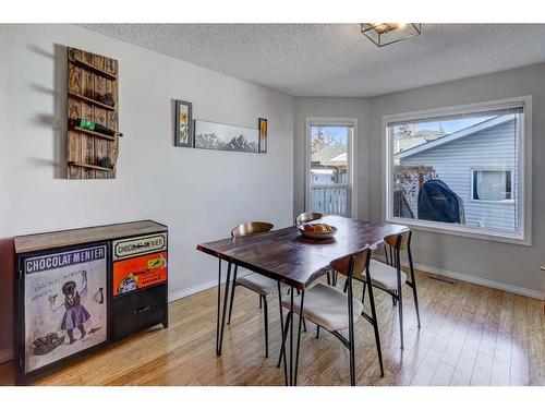
[[[352,137],[348,141],[348,151],[350,153],[349,159],[349,181],[348,188],[350,193],[350,217],[358,218],[358,160],[355,160],[358,149],[358,119],[356,118],[315,118],[307,117],[305,122],[305,212],[310,212],[310,197],[311,197],[311,183],[308,177],[311,175],[311,125],[339,125],[352,127]],[[329,188],[331,185],[328,185]],[[347,187],[344,184],[338,185],[339,188]]]

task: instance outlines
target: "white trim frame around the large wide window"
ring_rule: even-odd
[[[518,168],[518,200],[519,200],[519,225],[518,233],[505,233],[496,231],[485,231],[481,228],[469,226],[451,225],[443,222],[413,220],[409,218],[395,217],[393,207],[390,206],[392,197],[391,176],[393,175],[392,145],[393,140],[389,137],[388,123],[409,120],[419,120],[425,117],[440,117],[446,115],[457,115],[464,112],[487,111],[491,109],[502,109],[514,106],[523,106],[524,120],[519,123],[519,168]],[[513,244],[532,245],[532,96],[505,98],[492,101],[459,105],[421,111],[395,113],[383,117],[383,220],[407,225],[415,230],[429,231],[443,234],[470,237],[475,239],[501,241]]]

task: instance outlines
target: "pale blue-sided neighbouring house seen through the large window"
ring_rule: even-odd
[[[393,156],[397,166],[433,167],[464,203],[465,224],[517,229],[513,116],[499,116]]]

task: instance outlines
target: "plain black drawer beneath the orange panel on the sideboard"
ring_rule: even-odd
[[[167,325],[167,286],[158,285],[117,297],[112,300],[113,339]]]

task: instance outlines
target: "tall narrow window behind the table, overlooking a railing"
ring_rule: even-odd
[[[307,120],[306,210],[352,215],[351,120]]]

